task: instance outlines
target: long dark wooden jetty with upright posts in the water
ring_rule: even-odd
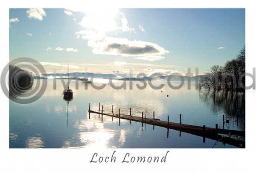
[[[224,142],[226,144],[234,145],[236,147],[240,147],[240,148],[245,147],[244,141],[229,137],[229,136],[244,137],[245,136],[244,131],[227,130],[227,129],[224,129],[224,126],[222,129],[220,129],[220,128],[218,128],[218,124],[215,124],[215,128],[206,127],[205,125],[194,126],[194,125],[189,125],[189,124],[182,124],[181,123],[181,114],[180,114],[180,123],[174,123],[174,122],[169,122],[169,116],[167,117],[167,121],[162,121],[160,119],[155,118],[155,112],[153,112],[153,118],[146,118],[146,116],[143,116],[143,112],[142,112],[141,117],[131,115],[131,108],[130,108],[129,115],[120,114],[120,109],[119,109],[119,114],[114,114],[113,105],[112,105],[112,112],[103,113],[103,105],[102,105],[102,109],[100,112],[100,104],[99,104],[99,111],[97,112],[97,111],[90,110],[90,104],[89,104],[88,112],[89,112],[89,118],[90,118],[90,113],[98,114],[99,116],[101,115],[102,122],[103,122],[103,115],[106,115],[106,116],[112,117],[112,121],[113,121],[113,118],[119,118],[119,125],[120,125],[120,119],[125,119],[125,120],[129,120],[130,124],[131,124],[131,121],[141,122],[142,125],[143,125],[143,123],[151,124],[151,125],[153,125],[153,129],[154,129],[154,126],[164,127],[164,128],[167,128],[167,138],[169,136],[169,129],[173,129],[173,130],[178,130],[180,132],[190,133],[190,134],[193,134],[196,136],[202,136],[203,142],[205,142],[205,138],[210,138],[210,139],[213,139],[216,141]],[[223,124],[224,124],[224,121],[223,121]],[[221,134],[224,134],[227,136],[223,136]]]

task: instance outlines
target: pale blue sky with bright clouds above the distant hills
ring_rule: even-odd
[[[9,57],[54,71],[199,75],[245,45],[245,9],[10,9]],[[195,75],[195,74],[194,74]]]

